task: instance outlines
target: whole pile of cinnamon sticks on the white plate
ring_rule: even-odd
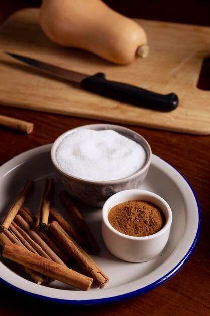
[[[100,248],[67,192],[61,192],[60,199],[76,229],[52,207],[53,185],[53,178],[45,180],[35,217],[23,207],[34,186],[34,181],[27,182],[0,225],[2,255],[17,262],[40,285],[59,280],[81,290],[89,290],[93,282],[103,288],[109,277],[82,247],[88,245],[94,254]],[[84,274],[69,267],[73,261]]]

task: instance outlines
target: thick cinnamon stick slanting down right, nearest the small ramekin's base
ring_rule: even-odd
[[[109,278],[101,269],[98,269],[97,265],[89,255],[72,239],[71,236],[63,231],[63,228],[56,221],[49,224],[49,229],[63,243],[66,250],[76,259],[84,271],[94,279],[98,287],[103,288],[109,281]]]

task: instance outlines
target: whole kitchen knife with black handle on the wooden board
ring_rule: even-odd
[[[4,54],[45,73],[76,82],[82,89],[89,92],[129,103],[137,107],[169,112],[175,110],[179,103],[178,96],[175,93],[164,95],[127,83],[107,80],[104,73],[87,75],[12,52],[5,51]]]

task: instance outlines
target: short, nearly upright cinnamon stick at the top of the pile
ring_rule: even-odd
[[[48,225],[48,218],[49,218],[49,212],[50,212],[50,204],[52,200],[52,194],[53,194],[53,187],[54,187],[54,179],[50,178],[45,179],[40,204],[39,204],[39,211],[38,211],[38,217],[36,222],[37,229],[45,230],[47,229]]]

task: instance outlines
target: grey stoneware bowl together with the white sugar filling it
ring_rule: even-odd
[[[102,206],[114,193],[142,184],[151,148],[130,129],[93,124],[58,137],[51,159],[58,180],[70,195],[85,204]]]

